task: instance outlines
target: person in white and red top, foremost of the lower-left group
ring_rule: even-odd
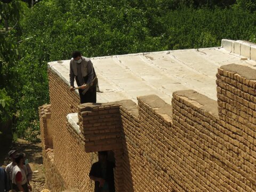
[[[12,171],[12,189],[16,191],[28,192],[31,186],[28,185],[26,174],[25,159],[23,154],[17,154],[14,161],[17,165],[13,167]]]

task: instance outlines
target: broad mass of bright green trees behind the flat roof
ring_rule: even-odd
[[[18,114],[17,133],[37,139],[38,107],[49,103],[47,62],[70,59],[74,50],[98,57],[213,47],[222,38],[256,41],[254,11],[254,1],[244,0],[39,1],[9,33],[19,43],[11,43],[7,59],[17,61],[18,49],[19,62],[1,77],[5,85],[6,77],[16,79],[12,86],[17,91],[10,95]]]

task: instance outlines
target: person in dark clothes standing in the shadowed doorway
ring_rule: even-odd
[[[93,163],[89,177],[94,183],[94,192],[115,192],[115,164],[107,160],[108,152],[98,152],[99,161]]]

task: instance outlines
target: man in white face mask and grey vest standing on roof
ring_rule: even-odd
[[[70,60],[70,91],[74,91],[74,79],[77,86],[82,86],[78,89],[80,102],[96,102],[96,86],[98,79],[89,58],[82,57],[81,52],[74,51]]]

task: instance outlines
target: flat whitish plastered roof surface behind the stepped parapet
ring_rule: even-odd
[[[217,100],[217,69],[230,63],[255,69],[255,58],[256,45],[222,39],[221,47],[113,55],[91,61],[99,79],[97,102],[137,102],[138,96],[156,94],[171,104],[172,93],[178,90],[195,90]],[[48,63],[67,84],[69,62]]]

